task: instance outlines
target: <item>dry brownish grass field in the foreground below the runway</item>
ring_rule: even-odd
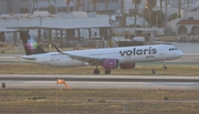
[[[0,90],[0,113],[198,114],[198,94],[196,90]],[[165,95],[169,101],[163,100]]]

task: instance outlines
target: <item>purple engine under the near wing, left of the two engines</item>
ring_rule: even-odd
[[[118,68],[118,60],[117,59],[106,59],[103,61],[104,69],[116,69]]]

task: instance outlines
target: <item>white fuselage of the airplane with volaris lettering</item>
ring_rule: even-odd
[[[122,63],[137,63],[151,61],[174,60],[182,56],[182,52],[172,45],[143,45],[111,49],[93,49],[80,51],[64,51],[65,53],[78,56],[95,59],[118,59]],[[31,60],[35,58],[35,60]],[[59,52],[43,54],[23,55],[20,60],[51,66],[83,66],[88,63],[72,59]]]

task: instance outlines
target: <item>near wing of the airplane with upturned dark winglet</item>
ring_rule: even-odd
[[[74,55],[74,54],[70,54],[70,53],[65,53],[65,52],[62,52],[57,46],[56,44],[54,44],[56,51],[61,54],[64,54],[64,55],[69,55],[71,59],[74,59],[74,60],[78,60],[78,61],[82,61],[82,62],[87,62],[88,64],[91,65],[102,65],[102,62],[104,59],[102,58],[91,58],[91,56],[81,56],[81,55]]]

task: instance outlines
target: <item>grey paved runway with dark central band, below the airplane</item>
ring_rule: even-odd
[[[7,89],[64,89],[56,84],[57,79],[65,80],[71,89],[199,90],[198,76],[0,74]]]

